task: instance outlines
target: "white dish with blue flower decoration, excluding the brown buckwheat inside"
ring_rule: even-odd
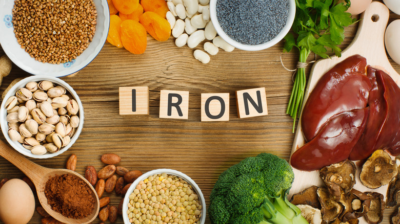
[[[19,68],[33,75],[61,77],[73,74],[88,65],[102,50],[110,26],[107,1],[93,0],[97,11],[97,25],[89,47],[72,62],[51,64],[36,61],[21,48],[14,34],[11,23],[14,0],[0,1],[0,43],[7,56]]]

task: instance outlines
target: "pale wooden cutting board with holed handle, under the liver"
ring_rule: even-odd
[[[371,65],[373,68],[385,71],[393,78],[397,85],[400,86],[400,75],[391,66],[386,55],[384,46],[384,35],[388,24],[388,19],[388,8],[382,3],[372,2],[369,8],[361,15],[361,20],[358,22],[359,27],[357,30],[357,34],[355,35],[354,40],[350,43],[349,47],[343,51],[342,57],[322,59],[314,63],[310,72],[308,85],[305,90],[304,102],[307,101],[308,96],[310,95],[319,78],[321,78],[327,71],[333,68],[334,65],[354,54],[359,54],[367,58],[368,65]],[[305,144],[301,122],[302,120],[300,119],[297,124],[292,153]],[[305,188],[312,185],[324,186],[321,178],[319,178],[319,171],[307,172],[297,169],[293,170],[295,178],[292,189],[289,193],[289,198],[292,194],[301,192]],[[388,185],[382,186],[374,190],[369,189],[362,185],[359,181],[359,171],[360,170],[357,169],[357,180],[354,188],[363,192],[376,191],[385,195],[386,198]],[[359,223],[361,224],[367,223],[364,218],[361,218],[359,221]]]

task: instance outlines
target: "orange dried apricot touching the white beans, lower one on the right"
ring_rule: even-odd
[[[171,36],[171,25],[167,19],[155,12],[145,12],[139,17],[147,32],[158,41],[166,41]]]

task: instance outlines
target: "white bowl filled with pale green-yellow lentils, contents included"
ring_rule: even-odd
[[[186,174],[156,169],[139,176],[123,203],[126,224],[204,224],[206,203],[202,191]]]

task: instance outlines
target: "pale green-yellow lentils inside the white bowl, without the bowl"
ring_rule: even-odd
[[[129,195],[128,217],[134,224],[197,223],[202,205],[192,186],[181,177],[154,174]]]

